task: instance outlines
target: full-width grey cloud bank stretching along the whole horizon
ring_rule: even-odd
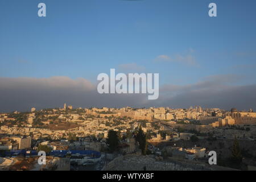
[[[85,78],[0,78],[0,112],[62,107],[150,107],[187,108],[193,105],[229,110],[256,109],[256,84],[238,85],[237,75],[208,76],[193,84],[160,86],[159,99],[147,94],[98,94],[97,85]]]

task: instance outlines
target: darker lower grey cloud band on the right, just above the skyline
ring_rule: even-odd
[[[237,107],[239,110],[256,109],[256,85],[243,86],[227,86],[221,89],[195,89],[188,90],[170,97],[162,97],[158,105],[179,108],[188,108],[193,105],[203,107],[220,107],[221,109],[229,110],[232,107]],[[167,95],[167,94],[165,94]]]

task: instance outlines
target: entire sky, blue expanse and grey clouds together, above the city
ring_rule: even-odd
[[[0,110],[220,107],[256,110],[255,1],[0,2]],[[232,5],[232,6],[230,6]],[[159,73],[159,99],[100,95],[97,75]],[[22,96],[22,97],[20,97]]]

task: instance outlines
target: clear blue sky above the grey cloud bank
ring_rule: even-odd
[[[40,2],[46,18],[38,17]],[[99,73],[134,65],[159,73],[160,85],[218,75],[240,78],[230,85],[255,84],[255,8],[254,0],[1,0],[0,77],[95,83]]]

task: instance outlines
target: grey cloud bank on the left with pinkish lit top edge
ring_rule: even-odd
[[[85,78],[75,80],[59,76],[49,78],[0,77],[0,112],[27,111],[63,107],[64,103],[75,107],[121,107],[141,103],[144,94],[98,94],[97,85]]]

